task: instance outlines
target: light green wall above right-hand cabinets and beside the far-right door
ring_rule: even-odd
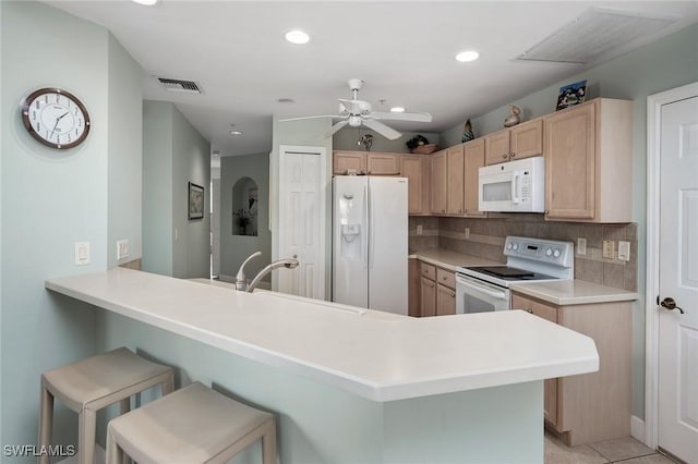
[[[645,417],[645,288],[647,246],[647,97],[698,82],[698,25],[647,45],[611,62],[575,74],[510,105],[524,110],[525,119],[551,113],[559,87],[588,80],[587,98],[633,100],[633,221],[638,223],[638,293],[633,317],[633,414]],[[498,131],[509,113],[508,105],[471,118],[478,137]],[[462,124],[441,134],[444,146],[460,143]]]

